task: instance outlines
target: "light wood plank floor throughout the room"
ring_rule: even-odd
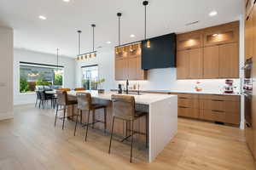
[[[254,169],[243,131],[237,127],[179,118],[177,136],[149,164],[140,158],[143,150],[137,149],[135,163],[130,163],[129,145],[119,142],[113,142],[108,155],[108,135],[90,129],[85,143],[84,129],[73,137],[73,122],[67,122],[64,131],[60,121],[57,127],[53,124],[53,110],[16,106],[15,119],[0,122],[0,169]]]

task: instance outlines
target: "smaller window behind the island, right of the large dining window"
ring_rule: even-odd
[[[97,89],[98,65],[82,66],[83,87],[88,90]]]

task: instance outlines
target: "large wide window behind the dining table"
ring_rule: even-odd
[[[63,66],[20,62],[20,93],[62,88]]]

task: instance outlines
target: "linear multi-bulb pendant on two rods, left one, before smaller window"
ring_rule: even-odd
[[[91,27],[92,27],[92,51],[89,53],[81,54],[81,33],[82,33],[82,31],[78,31],[78,33],[79,33],[79,54],[78,54],[77,60],[96,57],[97,52],[95,50],[95,31],[94,31],[96,25],[92,24]]]

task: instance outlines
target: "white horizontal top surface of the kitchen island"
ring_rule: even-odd
[[[73,95],[76,96],[77,93],[90,93],[92,98],[96,99],[106,99],[106,100],[111,100],[111,95],[112,94],[117,94],[116,92],[109,92],[105,91],[104,94],[98,94],[96,90],[86,90],[86,91],[69,91],[67,92],[68,95]],[[117,94],[120,95],[120,94]],[[175,95],[170,95],[170,94],[121,94],[121,95],[131,95],[134,96],[135,102],[137,104],[143,104],[143,105],[149,105],[151,103],[163,100],[163,99],[168,99],[172,98]]]

